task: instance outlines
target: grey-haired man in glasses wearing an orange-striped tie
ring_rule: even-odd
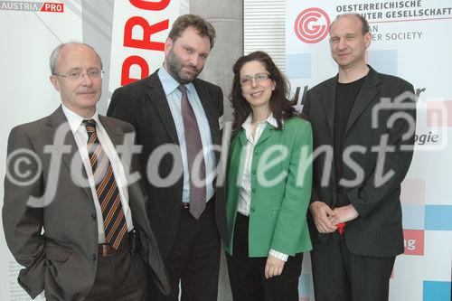
[[[25,267],[19,284],[33,298],[44,290],[48,300],[135,301],[146,300],[152,275],[168,293],[146,196],[116,150],[134,128],[96,111],[98,53],[61,44],[51,70],[61,106],[14,127],[8,140],[2,213],[8,247]],[[18,181],[26,174],[33,179]]]

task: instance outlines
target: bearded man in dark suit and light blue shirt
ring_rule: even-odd
[[[118,88],[108,115],[137,128],[143,145],[149,218],[164,257],[171,295],[155,300],[216,300],[220,236],[228,244],[225,199],[215,171],[220,162],[223,97],[197,79],[215,38],[212,24],[180,16],[165,42],[163,68]],[[164,154],[164,155],[157,155]]]

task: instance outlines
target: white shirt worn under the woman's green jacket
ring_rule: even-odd
[[[243,122],[241,127],[244,128],[245,134],[247,136],[247,148],[245,153],[245,165],[243,165],[243,175],[241,179],[241,186],[240,186],[240,199],[239,199],[239,206],[237,208],[237,211],[240,212],[243,215],[249,216],[250,215],[250,204],[251,204],[251,165],[252,165],[252,158],[254,153],[254,146],[259,141],[260,136],[264,132],[265,127],[267,127],[267,124],[272,127],[278,127],[277,119],[273,117],[273,114],[270,114],[268,118],[264,121],[260,121],[256,127],[256,133],[254,134],[254,137],[251,135],[251,121],[252,116],[250,116]],[[256,200],[255,202],[259,202],[259,200]],[[277,259],[281,259],[284,261],[287,261],[288,255],[278,252],[275,249],[270,249],[268,251],[268,255],[271,255]]]

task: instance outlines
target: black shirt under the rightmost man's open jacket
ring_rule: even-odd
[[[348,118],[352,111],[354,100],[363,86],[366,77],[348,83],[336,84],[336,95],[334,104],[334,170],[337,187],[343,178],[343,152],[344,134],[347,127]]]

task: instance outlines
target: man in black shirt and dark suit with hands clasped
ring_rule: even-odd
[[[316,301],[387,300],[403,252],[400,183],[412,157],[414,91],[366,65],[371,40],[361,15],[340,15],[330,27],[339,74],[306,93],[319,152],[310,204]]]

